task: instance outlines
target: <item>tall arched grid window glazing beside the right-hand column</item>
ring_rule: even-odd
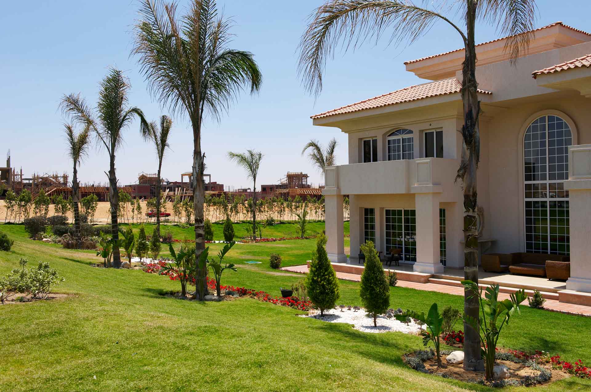
[[[525,251],[570,253],[569,146],[570,127],[558,116],[542,116],[524,138]]]

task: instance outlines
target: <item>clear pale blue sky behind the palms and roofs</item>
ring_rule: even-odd
[[[188,0],[180,0],[179,9]],[[336,128],[314,127],[310,116],[338,106],[423,83],[405,71],[406,60],[461,47],[457,32],[437,24],[413,45],[366,44],[356,51],[337,53],[324,75],[324,90],[317,100],[304,92],[296,74],[297,44],[307,16],[322,1],[219,0],[225,15],[233,17],[233,48],[254,53],[263,85],[256,96],[242,94],[222,120],[208,120],[202,147],[212,181],[233,187],[249,186],[241,169],[226,159],[227,151],[255,148],[265,155],[258,184],[277,182],[287,171],[304,171],[314,184],[321,176],[301,148],[310,138],[340,143],[338,164],[346,164],[346,135]],[[434,1],[433,4],[440,4]],[[538,1],[537,26],[563,21],[590,31],[589,0]],[[10,149],[12,165],[22,166],[25,177],[33,172],[71,172],[64,153],[64,117],[60,97],[82,93],[96,103],[98,83],[109,66],[125,70],[132,89],[129,102],[156,119],[168,110],[152,100],[137,58],[129,57],[132,27],[138,17],[135,0],[60,0],[8,2],[0,14],[0,165]],[[456,18],[457,19],[457,18]],[[498,38],[494,28],[479,25],[477,41]],[[174,118],[171,148],[164,158],[163,177],[179,181],[189,171],[192,135],[189,123]],[[141,171],[155,172],[157,161],[150,145],[139,137],[134,123],[125,131],[125,146],[116,158],[121,184],[131,184]],[[93,148],[80,168],[82,182],[106,182],[108,157]]]

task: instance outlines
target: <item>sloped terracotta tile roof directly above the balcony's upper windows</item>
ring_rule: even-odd
[[[376,107],[390,106],[397,103],[411,102],[429,97],[436,97],[446,94],[459,93],[462,89],[462,83],[456,78],[432,81],[431,83],[418,84],[394,92],[380,95],[374,98],[366,99],[361,102],[349,104],[347,106],[337,107],[337,109],[311,116],[312,119],[322,117],[342,115],[343,113],[359,112],[366,109],[375,109]],[[481,94],[492,94],[491,92],[480,90]]]

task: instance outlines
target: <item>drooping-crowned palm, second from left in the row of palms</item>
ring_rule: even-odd
[[[134,117],[139,117],[140,128],[148,127],[144,113],[138,107],[128,107],[127,94],[129,83],[122,71],[111,68],[100,84],[99,100],[96,109],[91,109],[80,94],[64,95],[61,99],[61,109],[69,114],[74,122],[92,130],[96,138],[109,154],[109,202],[111,202],[111,234],[113,243],[118,243],[119,226],[117,221],[117,207],[119,204],[119,190],[115,175],[115,153],[123,143],[122,131],[129,126]],[[119,247],[113,247],[113,267],[121,267]]]

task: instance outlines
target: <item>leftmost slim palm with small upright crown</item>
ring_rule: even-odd
[[[83,159],[88,156],[88,149],[90,147],[90,127],[85,127],[79,132],[74,132],[74,127],[71,124],[64,124],[67,141],[67,154],[74,163],[74,170],[72,174],[72,211],[74,214],[74,237],[78,243],[82,240],[80,234],[80,210],[78,202],[80,200],[80,188],[78,184],[78,166],[82,164]]]

